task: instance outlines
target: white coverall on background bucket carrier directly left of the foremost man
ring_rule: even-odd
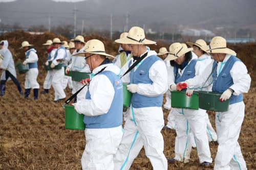
[[[83,47],[77,52],[77,50],[72,54],[83,52]],[[84,60],[84,57],[77,57],[72,56],[72,62],[68,65],[68,67],[72,71],[79,71],[79,72],[91,72],[90,67],[88,64],[86,64],[86,60]],[[73,89],[72,94],[75,94],[80,88],[83,87],[83,85],[80,82],[72,81]],[[77,94],[77,102],[86,98],[86,92],[88,88],[84,87],[78,94]]]

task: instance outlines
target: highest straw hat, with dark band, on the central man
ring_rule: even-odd
[[[133,27],[126,37],[115,40],[120,44],[156,44],[155,41],[147,40],[142,28]]]

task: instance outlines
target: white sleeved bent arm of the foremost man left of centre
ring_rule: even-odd
[[[104,75],[97,75],[89,86],[91,100],[84,99],[77,102],[75,110],[86,116],[98,116],[109,111],[114,99],[115,90],[110,80]]]

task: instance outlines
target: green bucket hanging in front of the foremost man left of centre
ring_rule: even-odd
[[[77,113],[74,106],[65,105],[65,128],[74,130],[86,129],[86,124],[83,123],[83,114]]]

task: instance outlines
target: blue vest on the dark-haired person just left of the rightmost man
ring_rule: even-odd
[[[197,64],[197,59],[191,60],[189,64],[183,69],[183,74],[180,76],[180,74],[177,72],[178,68],[175,65],[174,66],[174,77],[175,77],[175,84],[178,84],[180,82],[184,82],[188,79],[194,78],[196,76],[196,69],[195,66]],[[182,91],[186,91],[185,89],[182,89]]]

